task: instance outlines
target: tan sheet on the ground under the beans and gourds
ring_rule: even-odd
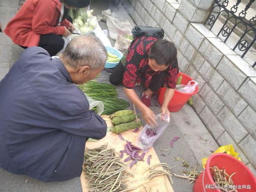
[[[108,116],[103,116],[104,120],[107,122],[108,127],[112,126],[110,118]],[[140,131],[142,127],[140,127]],[[137,136],[139,136],[140,132],[133,133],[132,130],[121,133],[125,140],[130,141],[132,144],[135,144]],[[106,137],[97,141],[97,142],[87,142],[87,148],[95,148],[101,145],[108,144],[108,148],[114,148],[116,152],[120,152],[124,150],[124,146],[126,141],[123,141],[119,138],[119,136],[115,133],[108,132]],[[141,154],[141,153],[140,153]],[[148,155],[152,155],[152,159],[150,160],[150,165],[147,164]],[[127,154],[124,154],[124,159],[128,157]],[[125,164],[129,164],[129,162]],[[159,158],[157,157],[154,148],[151,147],[148,153],[144,157],[144,161],[139,161],[136,165],[130,169],[129,167],[126,169],[128,172],[133,173],[133,177],[131,176],[126,180],[126,184],[128,188],[136,188],[135,190],[131,190],[132,192],[173,192],[172,186],[167,178],[167,176],[158,176],[153,178],[152,180],[148,180],[147,176],[149,172],[147,171],[149,166],[160,163]],[[163,167],[157,167],[157,169],[163,169]],[[85,178],[85,173],[83,172],[81,175],[81,182],[83,187],[83,192],[88,192],[87,178]]]

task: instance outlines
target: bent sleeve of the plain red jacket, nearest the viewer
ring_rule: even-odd
[[[50,26],[53,15],[58,14],[55,2],[49,4],[49,1],[39,1],[33,13],[32,30],[37,34],[54,33],[63,35],[65,33],[64,26]],[[49,17],[52,15],[52,17]]]

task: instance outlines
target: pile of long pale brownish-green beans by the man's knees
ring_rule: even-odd
[[[124,180],[131,174],[126,172],[127,165],[119,161],[115,151],[102,145],[87,149],[84,157],[84,170],[89,179],[90,192],[129,191]]]

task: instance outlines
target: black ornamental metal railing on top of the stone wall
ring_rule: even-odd
[[[241,12],[237,13],[238,7],[242,2],[241,0],[237,0],[236,2],[233,1],[234,3],[232,3],[231,6],[229,0],[215,0],[213,9],[211,10],[209,16],[205,21],[205,25],[209,25],[210,30],[212,30],[220,15],[225,18],[223,21],[223,26],[217,34],[218,37],[222,35],[222,39],[224,40],[224,42],[228,40],[228,38],[232,33],[234,33],[234,30],[236,28],[242,29],[242,33],[239,34],[239,40],[232,48],[233,50],[238,48],[240,50],[240,56],[242,58],[252,46],[255,46],[254,42],[256,40],[256,11],[253,12],[253,14],[255,15],[253,15],[251,18],[248,19],[247,16],[247,11],[254,1],[255,0],[250,0],[244,9]],[[227,7],[229,7],[229,9]],[[256,61],[253,63],[252,67],[255,66]]]

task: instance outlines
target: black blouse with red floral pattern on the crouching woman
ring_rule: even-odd
[[[123,76],[123,86],[132,89],[136,83],[144,82],[147,88],[154,75],[161,74],[165,76],[164,86],[175,89],[177,75],[179,73],[178,61],[174,61],[165,71],[154,72],[148,65],[149,50],[155,37],[139,37],[133,40],[126,55],[125,73]]]

